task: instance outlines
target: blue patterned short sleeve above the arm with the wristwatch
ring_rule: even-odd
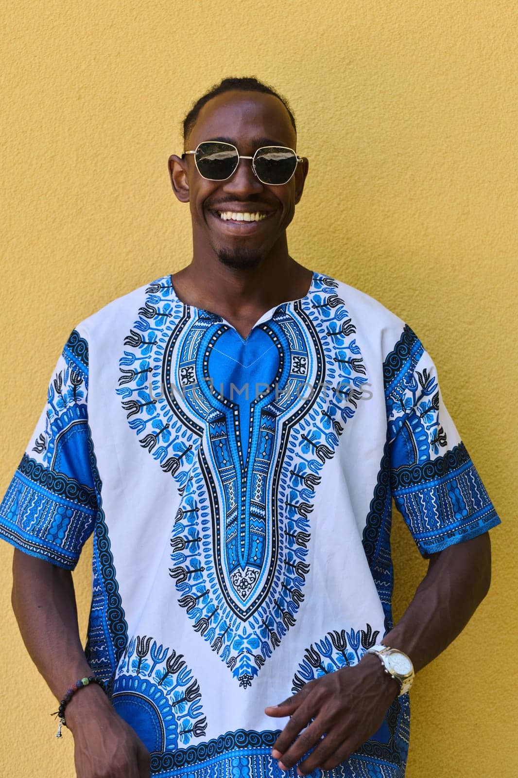
[[[383,374],[391,492],[422,556],[500,524],[444,405],[436,366],[408,324]]]

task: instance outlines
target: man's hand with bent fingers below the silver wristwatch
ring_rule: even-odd
[[[281,769],[290,769],[317,745],[297,773],[336,767],[381,727],[398,686],[374,654],[366,654],[352,667],[314,678],[292,697],[264,709],[267,716],[290,717],[271,755]]]

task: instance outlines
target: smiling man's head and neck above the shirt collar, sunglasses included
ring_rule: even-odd
[[[270,93],[227,88],[202,99],[185,135],[186,152],[169,166],[175,195],[191,208],[193,258],[172,282],[184,302],[217,312],[247,338],[265,310],[310,286],[312,272],[289,256],[286,239],[308,160],[293,150],[291,113]],[[285,183],[266,184],[261,173]]]

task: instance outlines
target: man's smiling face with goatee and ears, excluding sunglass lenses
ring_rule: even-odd
[[[250,156],[263,145],[296,150],[296,132],[281,100],[256,92],[226,92],[209,100],[185,139],[185,150],[215,139],[233,143],[240,154]],[[233,268],[258,265],[272,251],[285,247],[285,230],[302,196],[308,170],[304,158],[287,184],[274,186],[261,183],[251,163],[251,159],[240,159],[230,178],[209,181],[198,173],[194,155],[169,159],[173,191],[191,208],[194,251],[205,256],[212,252]],[[223,220],[222,212],[259,212],[264,218],[235,222]]]

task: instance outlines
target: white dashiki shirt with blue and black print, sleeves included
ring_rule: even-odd
[[[281,778],[264,707],[393,626],[392,498],[423,557],[500,523],[408,324],[313,272],[243,339],[165,275],[72,330],[0,533],[70,570],[93,534],[86,656],[152,775]],[[311,775],[402,778],[409,725]]]

